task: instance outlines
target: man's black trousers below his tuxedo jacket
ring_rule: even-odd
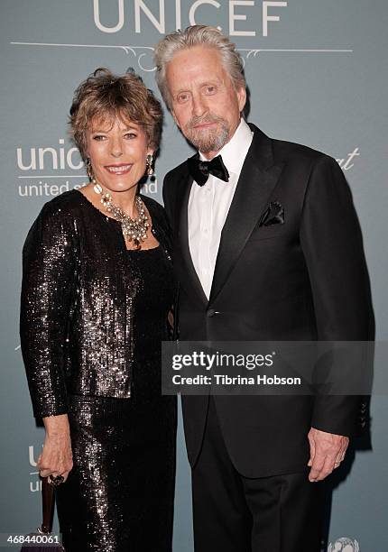
[[[309,469],[250,479],[227,454],[212,397],[192,469],[195,552],[319,552],[322,483]]]

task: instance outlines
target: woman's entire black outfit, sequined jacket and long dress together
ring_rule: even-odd
[[[171,552],[176,398],[162,396],[161,341],[176,285],[164,211],[143,201],[155,250],[127,251],[120,223],[77,190],[43,206],[23,247],[33,412],[69,416],[67,552]]]

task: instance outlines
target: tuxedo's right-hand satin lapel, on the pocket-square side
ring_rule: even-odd
[[[273,164],[271,140],[253,124],[250,127],[254,131],[254,139],[246,155],[222,230],[210,304],[224,286],[249,235],[263,215],[282,172],[283,163]]]

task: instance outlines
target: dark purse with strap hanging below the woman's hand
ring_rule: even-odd
[[[57,542],[57,537],[51,535],[52,519],[54,517],[54,488],[48,478],[42,478],[42,525],[37,533],[27,535],[21,552],[66,552],[65,548]]]

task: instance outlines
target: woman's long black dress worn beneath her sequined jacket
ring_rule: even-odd
[[[162,247],[127,261],[138,278],[132,396],[69,396],[74,467],[56,489],[67,552],[171,552],[176,398],[161,393],[161,341],[174,281]]]

